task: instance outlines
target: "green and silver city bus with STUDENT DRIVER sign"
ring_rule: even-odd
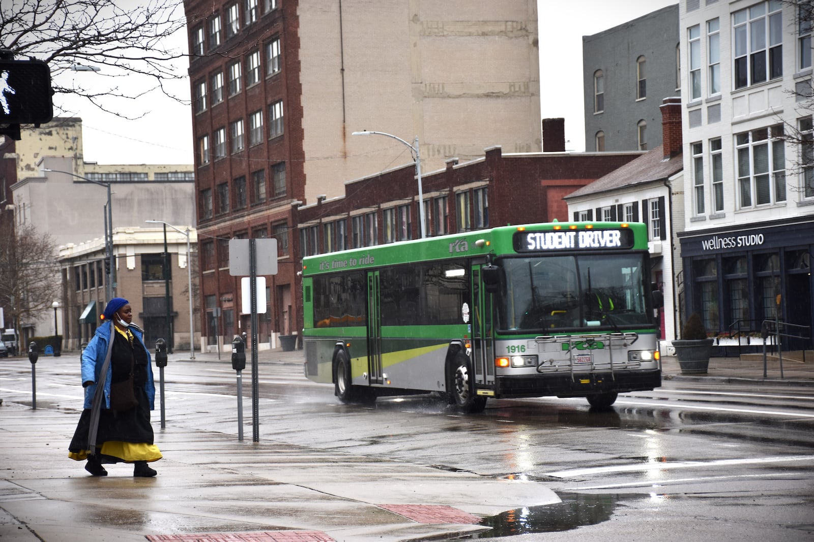
[[[339,400],[587,397],[661,385],[646,225],[540,223],[303,258],[305,375]]]

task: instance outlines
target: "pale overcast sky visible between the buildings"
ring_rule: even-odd
[[[564,117],[566,149],[584,150],[582,104],[582,37],[636,19],[676,0],[537,0],[540,33],[540,112],[542,118]],[[186,50],[186,35],[178,36]],[[186,65],[182,67],[186,71]],[[68,77],[101,77],[104,72],[73,72]],[[108,74],[105,83],[112,80]],[[131,76],[115,76],[122,86],[138,85]],[[182,80],[173,92],[189,99],[189,82]],[[193,163],[192,115],[180,104],[155,91],[127,104],[143,112],[138,120],[125,120],[99,111],[86,102],[56,101],[70,115],[82,119],[85,160],[116,163]],[[132,116],[132,115],[131,115]]]

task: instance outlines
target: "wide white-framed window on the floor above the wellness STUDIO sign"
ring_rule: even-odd
[[[782,137],[782,124],[735,134],[741,209],[786,201],[786,150]]]

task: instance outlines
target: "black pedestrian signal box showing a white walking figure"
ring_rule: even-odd
[[[50,69],[42,60],[0,59],[0,124],[45,124],[54,117]]]

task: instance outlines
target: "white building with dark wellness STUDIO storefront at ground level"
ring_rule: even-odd
[[[711,335],[754,334],[764,319],[812,323],[814,160],[799,141],[812,133],[812,25],[799,9],[780,0],[680,5],[677,281],[685,314],[701,314]]]

